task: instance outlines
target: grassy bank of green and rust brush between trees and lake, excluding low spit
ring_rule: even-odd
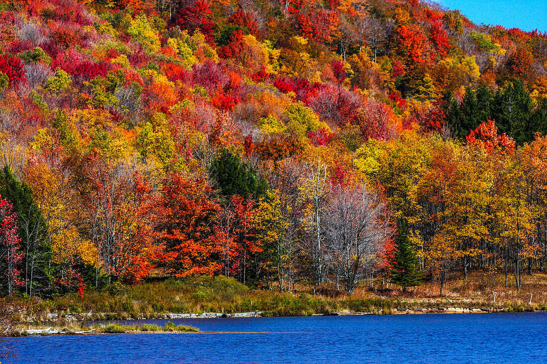
[[[501,277],[497,284],[481,284],[480,277],[469,280],[453,279],[440,296],[437,285],[424,284],[408,292],[398,287],[360,287],[353,295],[334,289],[323,289],[312,295],[310,287],[297,287],[295,293],[272,290],[252,290],[225,277],[191,277],[167,279],[125,286],[114,284],[107,289],[86,290],[77,294],[38,300],[19,319],[46,320],[49,313],[80,314],[88,320],[152,319],[164,313],[237,313],[263,312],[269,316],[308,316],[344,312],[390,314],[404,310],[439,307],[492,308],[502,312],[547,310],[547,275],[525,278],[520,292],[504,287]],[[494,294],[496,302],[494,302]],[[532,302],[529,297],[532,296]]]

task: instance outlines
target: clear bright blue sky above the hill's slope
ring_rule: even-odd
[[[525,31],[547,32],[547,0],[433,0],[459,9],[475,24],[502,25]]]

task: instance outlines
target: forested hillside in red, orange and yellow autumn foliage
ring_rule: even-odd
[[[520,290],[546,70],[547,34],[418,0],[0,0],[0,295]]]

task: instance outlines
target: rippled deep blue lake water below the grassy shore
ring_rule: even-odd
[[[547,313],[172,321],[212,333],[18,338],[2,364],[547,362]]]

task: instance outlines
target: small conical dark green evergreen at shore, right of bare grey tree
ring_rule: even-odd
[[[409,231],[406,222],[399,222],[399,233],[395,239],[395,256],[391,266],[391,282],[403,287],[414,287],[422,283],[420,270],[418,269],[418,259],[412,250],[409,239]]]

